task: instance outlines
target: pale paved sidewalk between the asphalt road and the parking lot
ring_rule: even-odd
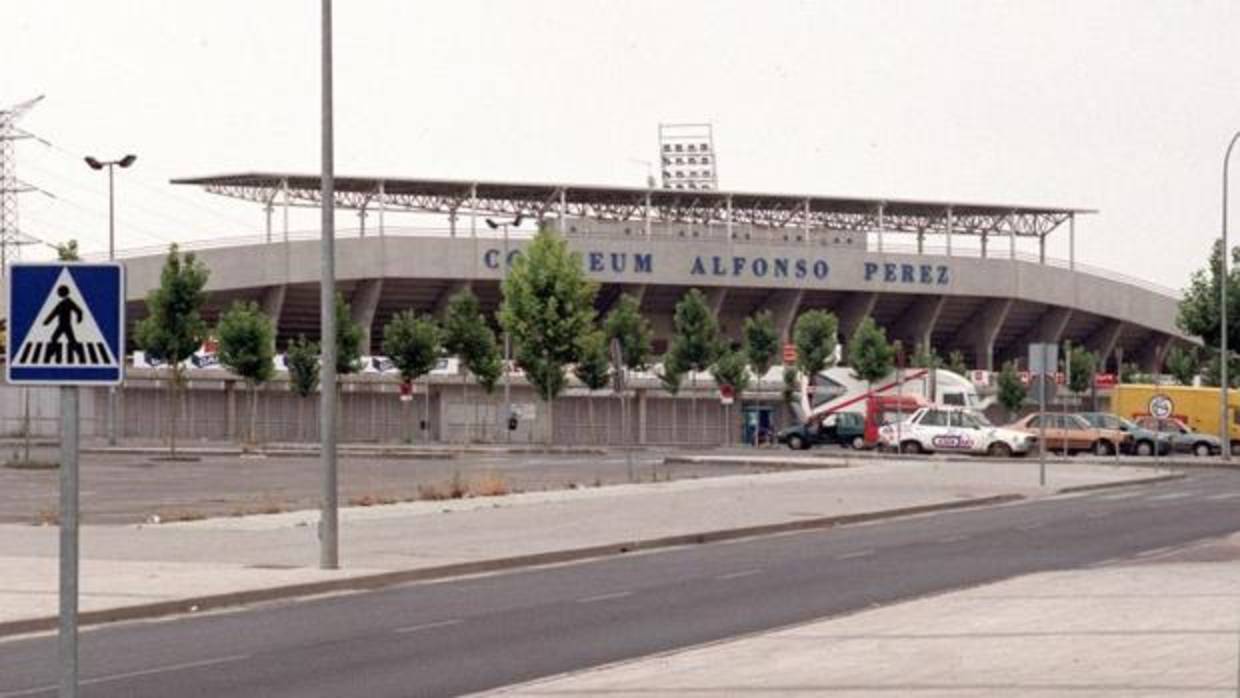
[[[82,529],[83,611],[279,589],[1149,477],[1148,469],[873,461],[861,467],[342,510],[343,569],[317,569],[317,512]],[[0,526],[0,626],[56,614],[57,529]],[[306,593],[301,589],[295,593]],[[162,612],[170,612],[167,610]]]

